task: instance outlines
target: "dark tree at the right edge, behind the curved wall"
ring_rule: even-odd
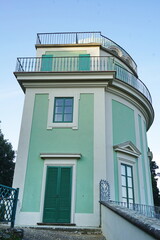
[[[151,153],[150,149],[149,149],[149,153]],[[152,189],[153,189],[153,200],[154,200],[155,206],[160,206],[160,191],[159,191],[159,188],[157,187],[158,178],[156,178],[157,177],[156,169],[158,169],[159,167],[157,166],[156,162],[153,161],[152,154],[150,155],[151,156],[149,157],[149,159],[150,159],[151,180],[152,180]]]

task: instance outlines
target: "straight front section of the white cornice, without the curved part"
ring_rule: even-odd
[[[75,72],[75,73],[15,73],[25,91],[26,88],[73,88],[104,87],[115,78],[115,72]]]

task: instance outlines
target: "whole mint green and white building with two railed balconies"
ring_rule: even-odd
[[[132,57],[101,32],[37,34],[35,46],[14,73],[25,93],[16,223],[99,226],[101,179],[112,200],[153,205],[154,110]]]

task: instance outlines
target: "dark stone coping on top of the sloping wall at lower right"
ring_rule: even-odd
[[[141,214],[138,214],[131,209],[116,206],[109,202],[100,201],[100,204],[109,208],[111,211],[118,214],[120,217],[124,218],[128,222],[132,223],[136,227],[142,229],[144,232],[148,233],[156,239],[160,239],[160,221],[156,218],[148,218]]]

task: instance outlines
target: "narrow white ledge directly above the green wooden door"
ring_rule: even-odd
[[[80,159],[82,155],[80,153],[40,153],[40,158],[44,159]]]

